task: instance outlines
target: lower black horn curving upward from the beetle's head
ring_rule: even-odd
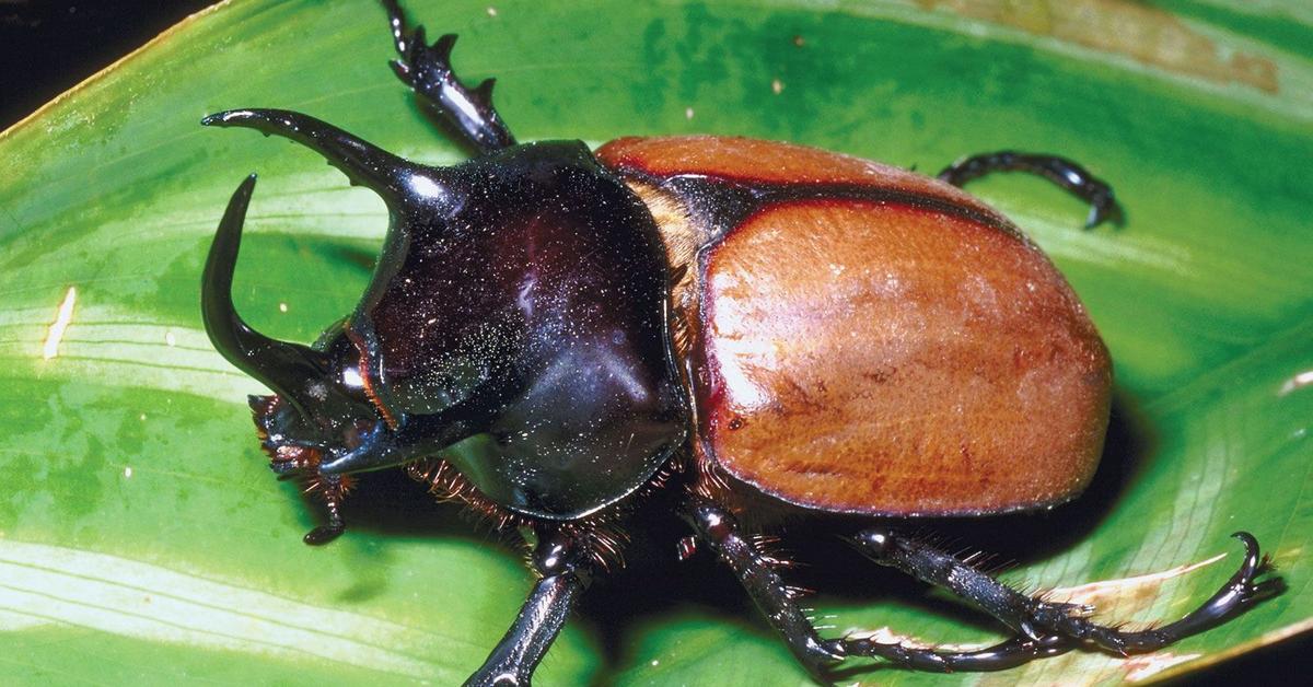
[[[232,306],[232,271],[242,244],[242,222],[253,189],[255,175],[251,175],[232,193],[223,211],[201,277],[201,315],[210,342],[228,363],[264,382],[305,415],[301,398],[307,385],[322,376],[326,368],[323,355],[252,330]]]

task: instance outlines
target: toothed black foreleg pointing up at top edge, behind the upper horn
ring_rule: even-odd
[[[452,71],[456,34],[445,34],[428,45],[424,28],[411,29],[397,0],[383,0],[383,5],[393,26],[397,54],[400,55],[390,62],[397,76],[481,151],[513,146],[515,137],[492,106],[495,80],[487,79],[470,89]]]

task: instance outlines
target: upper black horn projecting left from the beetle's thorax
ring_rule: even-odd
[[[280,135],[323,155],[328,164],[341,169],[353,185],[365,187],[393,201],[435,188],[423,168],[387,152],[368,141],[356,138],[336,126],[290,110],[249,109],[227,110],[201,120],[205,126],[246,126]],[[415,183],[423,176],[428,184]]]

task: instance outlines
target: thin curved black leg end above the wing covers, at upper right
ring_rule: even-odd
[[[1070,190],[1090,204],[1085,227],[1090,229],[1106,219],[1120,225],[1121,206],[1112,194],[1112,187],[1091,175],[1073,160],[1057,155],[1035,155],[1003,150],[961,158],[939,172],[939,179],[955,187],[991,172],[1029,172]]]

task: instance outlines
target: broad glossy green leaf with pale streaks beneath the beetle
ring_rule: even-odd
[[[1204,599],[1237,564],[1226,536],[1239,528],[1289,591],[1149,658],[1085,652],[956,679],[1180,674],[1313,624],[1302,3],[408,5],[432,35],[461,34],[467,81],[499,78],[521,139],[696,131],[927,171],[1003,147],[1088,164],[1116,185],[1121,230],[1079,231],[1083,209],[1043,180],[972,190],[1054,256],[1108,342],[1119,402],[1104,468],[1075,504],[945,527],[1018,558],[1006,577],[1020,583],[1129,579],[1106,604],[1115,619],[1174,619]],[[366,479],[347,535],[301,545],[316,515],[265,468],[244,405],[260,388],[200,323],[204,251],[246,173],[261,183],[236,299],[273,335],[310,340],[347,313],[386,226],[378,200],[312,154],[205,130],[204,114],[289,108],[421,162],[461,158],[387,72],[390,51],[372,3],[223,4],[0,134],[5,682],[450,684],[515,617],[530,582],[515,548],[403,479]],[[659,544],[595,585],[540,684],[807,683],[726,571],[705,556],[663,562]],[[798,577],[835,583],[814,603],[836,616],[831,632],[1001,637],[851,554],[819,561]]]

